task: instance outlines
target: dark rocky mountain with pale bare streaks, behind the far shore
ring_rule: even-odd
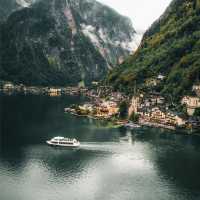
[[[2,80],[87,84],[102,79],[137,46],[131,21],[95,0],[8,2],[7,13],[15,11],[0,26]]]

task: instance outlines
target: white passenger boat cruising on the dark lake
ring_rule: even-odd
[[[79,147],[80,142],[76,139],[64,138],[64,137],[54,137],[51,140],[47,141],[47,144],[51,146],[60,146],[60,147]]]

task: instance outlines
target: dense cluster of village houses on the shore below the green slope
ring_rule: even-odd
[[[111,87],[97,88],[90,90],[89,96],[93,97],[90,102],[72,105],[65,108],[65,112],[111,120],[117,125],[129,128],[150,126],[169,130],[189,130],[190,133],[200,129],[200,85],[193,86],[194,96],[184,96],[179,105],[176,105],[182,108],[181,111],[171,109],[171,103],[157,92],[141,92],[128,97],[120,92],[113,92]]]

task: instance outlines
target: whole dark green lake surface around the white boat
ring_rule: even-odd
[[[0,96],[0,200],[200,199],[200,137],[64,114],[81,101]],[[58,135],[80,149],[45,144]]]

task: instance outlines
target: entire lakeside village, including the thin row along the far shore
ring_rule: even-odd
[[[149,84],[149,83],[148,83]],[[152,84],[152,83],[151,83]],[[155,83],[153,83],[155,84]],[[93,82],[93,87],[32,87],[1,82],[0,91],[6,94],[24,93],[33,95],[83,95],[88,103],[72,105],[65,112],[94,119],[106,119],[119,126],[138,127],[137,125],[166,128],[170,130],[200,129],[200,85],[194,85],[194,96],[184,96],[180,102],[185,113],[175,112],[170,108],[165,97],[159,93],[137,93],[126,96],[113,92],[108,86],[100,86]]]

